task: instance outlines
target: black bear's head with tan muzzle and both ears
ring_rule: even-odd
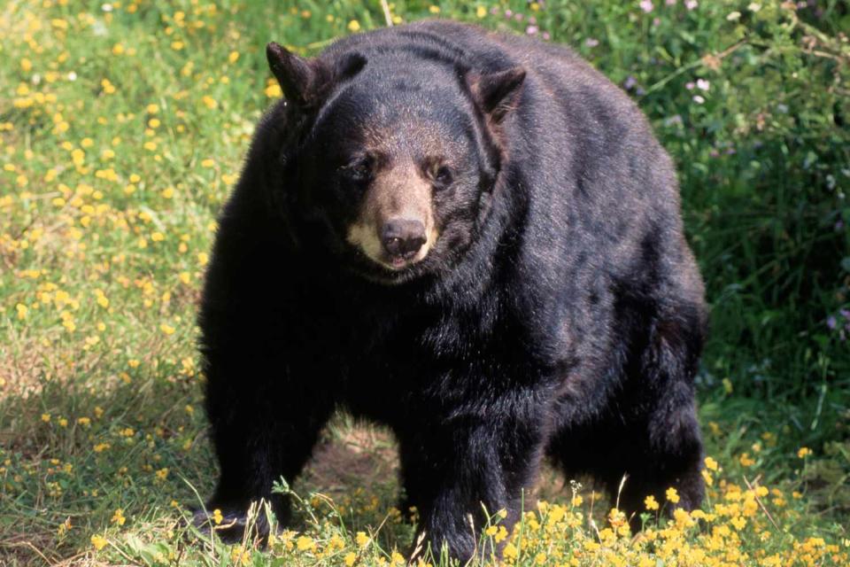
[[[267,47],[295,132],[298,214],[361,276],[451,269],[486,220],[522,67],[482,74],[410,51],[300,58]]]

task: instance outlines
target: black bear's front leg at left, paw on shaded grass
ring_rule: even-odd
[[[318,387],[315,379],[297,379],[302,373],[293,365],[255,355],[235,367],[228,363],[233,354],[207,354],[206,411],[220,477],[206,514],[221,510],[221,524],[231,525],[217,528],[225,541],[242,539],[247,510],[261,499],[271,503],[281,524],[289,522],[289,497],[273,494],[272,486],[281,477],[291,483],[298,476],[333,407],[331,389]],[[206,514],[199,513],[197,523]],[[267,536],[262,513],[254,532]]]

